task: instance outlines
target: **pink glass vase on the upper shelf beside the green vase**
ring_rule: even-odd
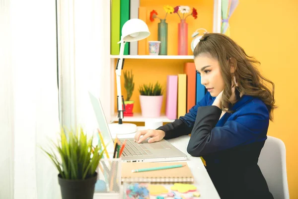
[[[188,24],[185,19],[178,23],[178,55],[188,55]]]

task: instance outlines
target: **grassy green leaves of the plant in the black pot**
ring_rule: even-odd
[[[59,176],[69,180],[94,177],[103,156],[101,143],[92,146],[93,136],[88,139],[82,128],[77,128],[76,132],[66,132],[61,128],[60,134],[61,139],[57,143],[52,141],[51,150],[41,147],[59,171]]]

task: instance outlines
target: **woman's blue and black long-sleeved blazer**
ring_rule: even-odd
[[[269,110],[251,96],[242,96],[224,113],[213,106],[215,98],[207,93],[184,116],[159,127],[164,139],[191,137],[187,152],[202,156],[206,169],[222,199],[273,199],[257,165],[267,138]]]

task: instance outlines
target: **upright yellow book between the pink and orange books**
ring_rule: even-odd
[[[178,74],[178,113],[177,117],[186,113],[186,74]]]

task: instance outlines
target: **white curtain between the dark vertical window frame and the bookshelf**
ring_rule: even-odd
[[[92,133],[98,125],[88,92],[110,110],[110,1],[60,0],[58,6],[61,120]]]

